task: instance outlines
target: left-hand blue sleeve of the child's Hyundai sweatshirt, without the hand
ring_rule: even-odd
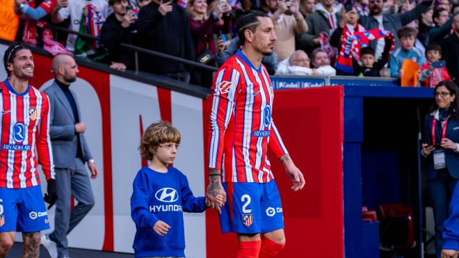
[[[154,227],[159,219],[148,210],[147,186],[140,183],[140,179],[134,179],[134,191],[131,196],[131,218],[138,227]]]

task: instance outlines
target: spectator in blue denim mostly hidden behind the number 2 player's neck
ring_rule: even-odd
[[[239,37],[233,38],[229,45],[225,45],[223,40],[218,40],[218,54],[217,54],[217,63],[220,67],[227,61],[228,58],[236,54],[238,49],[241,47],[241,42]],[[264,56],[261,63],[266,67],[268,70],[268,74],[273,75],[277,70],[277,65],[279,65],[279,59],[277,58],[277,54],[273,51],[271,56]]]

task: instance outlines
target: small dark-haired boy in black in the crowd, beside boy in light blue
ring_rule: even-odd
[[[382,70],[389,61],[389,50],[390,44],[386,41],[383,56],[375,62],[375,49],[372,47],[363,47],[360,51],[360,61],[362,65],[353,60],[354,75],[380,77],[380,70]]]

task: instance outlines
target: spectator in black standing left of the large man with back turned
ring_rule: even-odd
[[[126,70],[134,68],[134,53],[130,49],[121,47],[121,43],[135,45],[132,31],[137,29],[134,10],[127,10],[129,1],[108,0],[113,13],[108,15],[102,26],[101,38],[111,62],[110,68]]]

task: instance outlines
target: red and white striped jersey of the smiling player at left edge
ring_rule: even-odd
[[[8,79],[0,86],[0,187],[40,184],[35,147],[46,179],[54,178],[48,96],[32,86],[19,94]]]

